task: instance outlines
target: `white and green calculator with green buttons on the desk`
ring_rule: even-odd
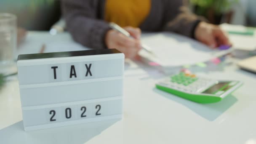
[[[243,83],[240,81],[212,80],[180,72],[156,84],[160,90],[198,103],[221,101]]]

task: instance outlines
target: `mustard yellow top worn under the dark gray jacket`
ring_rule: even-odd
[[[151,0],[106,0],[105,20],[121,27],[139,27],[150,8]]]

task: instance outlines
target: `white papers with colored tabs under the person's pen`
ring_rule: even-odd
[[[206,62],[232,51],[212,49],[189,37],[174,33],[143,34],[142,43],[152,48],[155,54],[154,56],[142,50],[139,54],[143,60],[159,64],[165,72],[184,65]]]

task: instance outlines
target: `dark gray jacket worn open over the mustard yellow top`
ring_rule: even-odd
[[[105,0],[62,0],[62,13],[73,39],[90,48],[106,48],[110,29],[104,21]],[[190,13],[183,0],[151,0],[151,10],[142,31],[170,31],[194,37],[200,18]]]

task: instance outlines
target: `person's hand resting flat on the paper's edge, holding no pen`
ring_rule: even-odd
[[[219,26],[203,21],[195,29],[195,38],[211,48],[216,48],[220,45],[232,45],[226,33]]]

